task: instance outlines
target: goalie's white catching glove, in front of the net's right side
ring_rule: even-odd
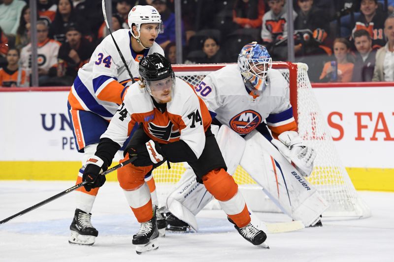
[[[301,175],[310,175],[313,170],[316,151],[311,147],[304,146],[296,131],[285,131],[278,136],[278,139],[272,139],[271,143],[294,163],[296,170]]]

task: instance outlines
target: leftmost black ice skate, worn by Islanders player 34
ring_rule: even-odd
[[[74,218],[70,225],[71,236],[68,243],[77,245],[93,245],[99,232],[93,227],[90,218],[92,214],[75,209]]]

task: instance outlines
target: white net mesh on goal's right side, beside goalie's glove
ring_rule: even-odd
[[[306,64],[297,64],[298,133],[317,150],[315,168],[308,178],[330,204],[326,216],[369,216],[369,208],[357,196],[346,169],[338,158],[326,119],[308,79]]]

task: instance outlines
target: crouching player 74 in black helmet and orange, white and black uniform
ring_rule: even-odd
[[[97,151],[87,161],[83,180],[89,187],[101,186],[99,175],[124,145],[136,123],[141,123],[125,152],[132,164],[118,171],[118,181],[141,227],[132,243],[138,254],[157,249],[155,212],[144,176],[165,161],[187,162],[197,181],[219,201],[238,232],[254,245],[265,244],[265,233],[251,221],[245,201],[226,164],[214,135],[211,116],[195,90],[176,78],[171,64],[162,55],[149,55],[139,63],[140,81],[129,87],[124,102],[101,136]]]

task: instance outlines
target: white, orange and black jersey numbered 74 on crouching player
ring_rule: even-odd
[[[135,123],[141,123],[152,140],[161,144],[182,140],[198,158],[204,149],[205,131],[212,118],[194,89],[176,78],[171,90],[172,99],[162,113],[153,104],[148,90],[139,85],[138,81],[129,87],[122,106],[101,138],[109,138],[123,146]]]

